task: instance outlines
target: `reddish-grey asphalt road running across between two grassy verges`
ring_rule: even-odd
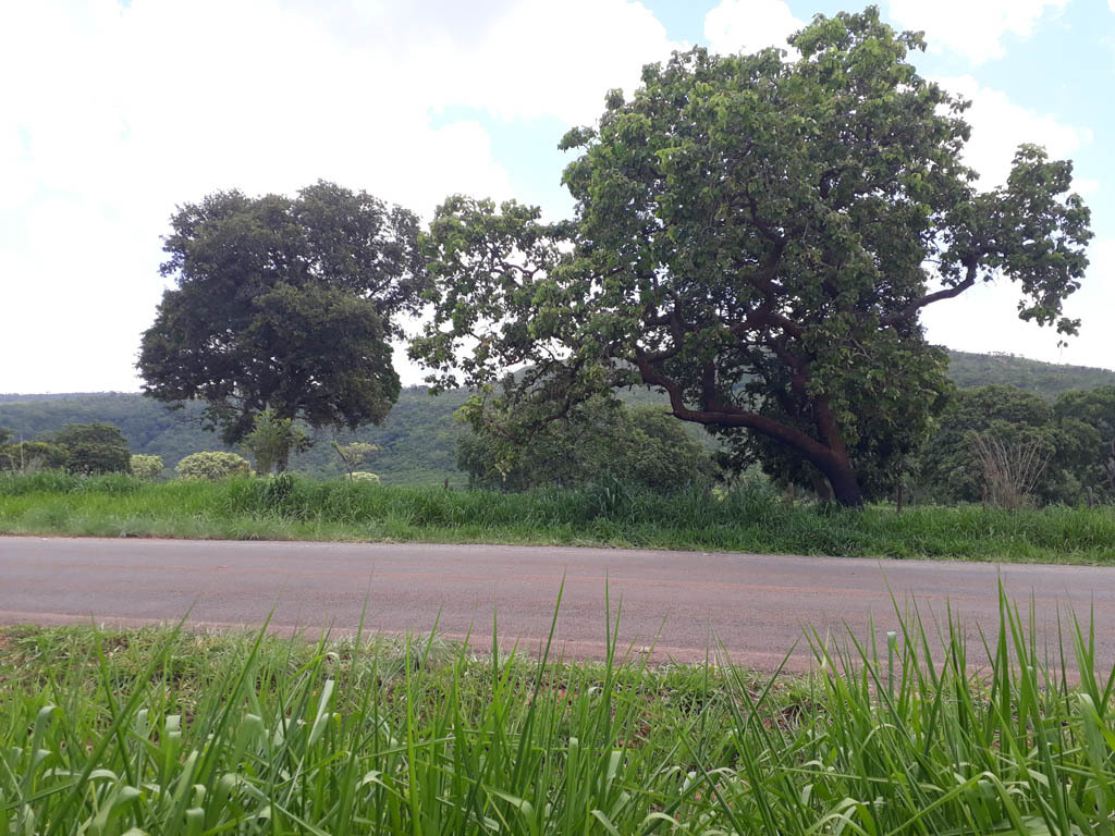
[[[655,648],[660,661],[699,661],[718,647],[733,662],[770,670],[803,626],[838,640],[894,629],[892,600],[911,596],[930,629],[947,605],[963,620],[978,663],[978,628],[993,634],[998,580],[1024,607],[1032,596],[1039,641],[1058,610],[1083,620],[1094,606],[1098,657],[1115,662],[1115,570],[786,557],[691,552],[488,545],[241,543],[0,537],[0,624],[198,626],[438,632],[491,647],[535,649],[558,618],[566,655],[600,658],[605,593],[621,649]],[[892,593],[894,599],[892,599]],[[809,665],[804,642],[791,668]]]

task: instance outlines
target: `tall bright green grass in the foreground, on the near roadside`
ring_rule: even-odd
[[[807,636],[806,679],[652,669],[614,633],[578,664],[9,628],[0,833],[1111,834],[1092,629],[1046,648],[1032,612],[1000,618],[976,648],[943,624],[935,657],[915,611],[883,648]]]

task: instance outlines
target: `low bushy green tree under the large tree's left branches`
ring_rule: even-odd
[[[458,440],[457,466],[473,486],[581,488],[614,479],[665,493],[712,482],[711,459],[661,408],[628,409],[599,396],[529,436],[513,435],[502,409],[498,399],[478,396],[460,410],[472,432]]]

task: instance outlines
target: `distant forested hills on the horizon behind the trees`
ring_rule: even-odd
[[[1004,383],[1051,400],[1069,389],[1115,386],[1115,371],[1107,369],[1057,366],[1010,354],[949,353],[949,377],[961,388]],[[456,469],[456,443],[464,430],[453,414],[467,397],[464,390],[434,397],[424,387],[406,388],[382,427],[366,427],[356,434],[319,432],[318,443],[295,456],[292,467],[317,476],[337,475],[340,468],[329,441],[334,437],[341,443],[359,439],[382,448],[365,468],[385,482],[434,484],[448,477],[450,484],[462,485],[465,477]],[[665,396],[647,390],[621,397],[629,404],[666,404]],[[200,415],[196,404],[171,411],[133,393],[0,395],[0,427],[13,429],[18,437],[36,438],[64,424],[108,421],[123,430],[133,453],[162,456],[167,467],[191,453],[222,448],[214,434],[201,428]],[[711,444],[699,427],[690,430],[695,438]]]

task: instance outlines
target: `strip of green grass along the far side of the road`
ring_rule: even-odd
[[[427,541],[1115,563],[1115,509],[787,505],[760,485],[724,497],[498,494],[290,479],[142,483],[0,476],[0,532],[234,539]]]

